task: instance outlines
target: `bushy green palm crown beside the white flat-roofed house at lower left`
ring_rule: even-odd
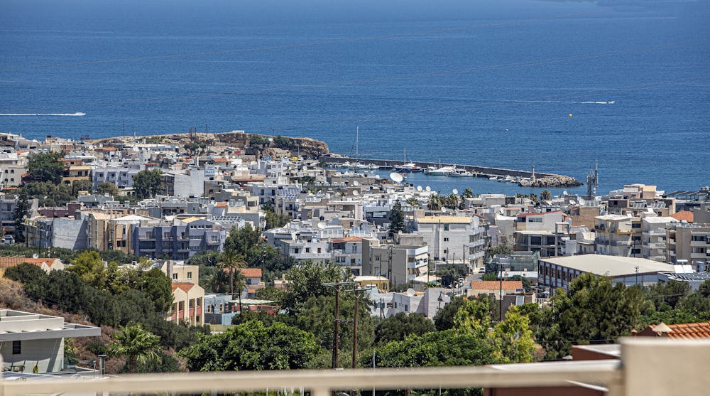
[[[156,353],[160,337],[144,330],[139,323],[129,323],[114,333],[114,342],[109,345],[109,353],[114,356],[126,356],[129,373],[136,373],[138,363],[145,364],[148,360],[160,361]]]

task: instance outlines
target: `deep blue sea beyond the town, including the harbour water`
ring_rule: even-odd
[[[596,164],[598,195],[697,191],[710,185],[709,3],[4,0],[0,132],[243,130],[582,182]]]

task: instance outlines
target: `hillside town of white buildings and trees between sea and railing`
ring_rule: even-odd
[[[708,187],[440,195],[242,131],[0,144],[9,373],[574,364],[710,334]]]

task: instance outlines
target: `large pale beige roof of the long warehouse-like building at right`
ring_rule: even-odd
[[[568,257],[540,257],[540,262],[549,262],[562,267],[577,269],[580,272],[608,277],[623,275],[648,274],[653,272],[675,272],[671,264],[657,262],[637,257],[620,257],[605,255],[579,255]],[[638,272],[636,270],[638,267]]]

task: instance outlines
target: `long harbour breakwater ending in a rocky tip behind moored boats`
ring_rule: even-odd
[[[402,161],[402,160],[393,160],[393,159],[354,159],[350,158],[347,156],[332,156],[332,155],[322,155],[318,157],[319,161],[324,162],[324,164],[331,165],[331,166],[339,166],[345,163],[353,163],[355,161],[359,162],[360,164],[366,164],[366,165],[376,165],[380,167],[392,167],[392,166],[401,166],[403,164],[415,164],[416,166],[420,168],[438,168],[439,166],[456,166],[457,168],[460,169],[465,169],[466,171],[469,171],[473,173],[474,176],[476,177],[481,177],[481,178],[491,178],[493,176],[496,177],[506,177],[506,176],[511,176],[513,178],[523,178],[523,179],[530,179],[532,178],[532,168],[530,171],[523,171],[520,169],[506,169],[506,168],[492,168],[490,166],[476,166],[476,165],[464,165],[464,164],[444,164],[443,162],[439,164],[439,162],[425,162],[425,161]],[[542,183],[540,182],[535,182],[531,184],[531,181],[520,181],[520,185],[523,186],[523,183],[526,183],[525,186],[543,186],[543,187],[576,187],[576,186],[581,186],[582,183],[579,182],[576,178],[573,178],[572,176],[564,176],[560,175],[557,173],[545,173],[545,172],[538,172],[535,171],[535,179],[541,180]]]

